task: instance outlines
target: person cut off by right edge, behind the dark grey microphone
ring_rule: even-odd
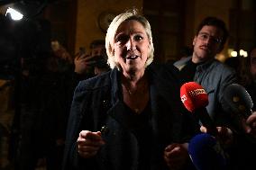
[[[255,166],[254,157],[251,155],[256,152],[256,48],[250,50],[247,58],[241,57],[235,58],[235,60],[237,60],[235,68],[239,84],[243,85],[250,94],[253,106],[251,115],[245,118],[245,134],[237,136],[237,141],[233,146],[230,169],[251,169]]]

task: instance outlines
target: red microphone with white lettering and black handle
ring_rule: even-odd
[[[206,111],[209,101],[203,86],[196,82],[185,83],[180,87],[180,99],[189,112],[195,113],[202,125],[206,127],[207,132],[216,136],[215,123]]]

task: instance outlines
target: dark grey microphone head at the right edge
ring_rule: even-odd
[[[253,106],[251,96],[242,85],[232,84],[224,89],[224,100],[236,115],[247,119],[251,115]]]

